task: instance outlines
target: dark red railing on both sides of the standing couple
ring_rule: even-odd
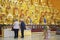
[[[26,25],[26,28],[29,28],[31,29],[32,31],[33,30],[37,30],[37,31],[43,31],[44,30],[44,26],[49,26],[51,31],[56,31],[57,29],[60,30],[60,25]],[[0,25],[0,28],[3,27],[3,28],[11,28],[13,27],[13,25]]]

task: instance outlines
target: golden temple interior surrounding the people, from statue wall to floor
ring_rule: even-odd
[[[45,25],[51,28],[50,40],[60,40],[60,0],[0,0],[0,40],[15,40],[11,31],[15,19],[26,23],[25,38],[19,31],[16,40],[44,40]]]

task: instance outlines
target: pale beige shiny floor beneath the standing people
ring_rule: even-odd
[[[19,37],[14,39],[13,37],[9,37],[9,38],[0,37],[0,40],[60,40],[60,35],[51,33],[51,37],[49,39],[44,39],[43,33],[32,33],[31,36],[25,36],[24,38]]]

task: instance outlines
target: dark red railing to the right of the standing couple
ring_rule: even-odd
[[[29,28],[31,28],[32,31],[43,31],[44,30],[44,26],[49,26],[51,31],[56,31],[60,30],[60,25],[26,25],[28,26]]]

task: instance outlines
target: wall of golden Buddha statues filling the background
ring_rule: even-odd
[[[14,19],[24,19],[26,24],[57,24],[59,10],[44,0],[0,0],[0,23],[12,24]]]

